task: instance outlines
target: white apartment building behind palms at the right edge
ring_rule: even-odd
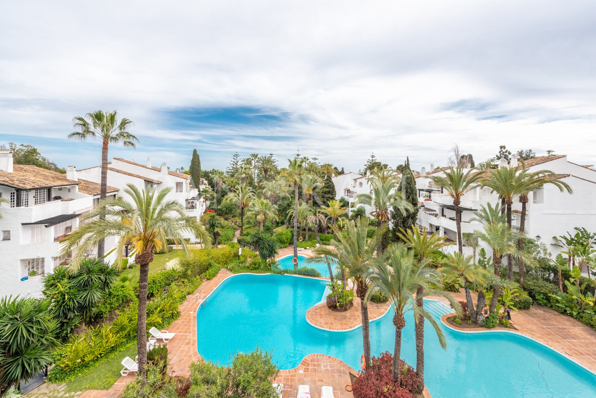
[[[511,163],[502,161],[499,167],[510,167],[517,165],[517,158],[512,158]],[[525,230],[528,237],[537,238],[544,242],[551,253],[557,254],[560,248],[554,246],[554,236],[564,235],[566,232],[573,232],[573,228],[585,227],[589,231],[596,231],[596,170],[592,165],[581,166],[567,160],[567,156],[542,156],[525,161],[526,167],[532,171],[551,170],[563,178],[562,181],[569,184],[573,194],[566,191],[560,192],[558,188],[547,184],[542,189],[536,189],[528,195],[529,202],[526,204],[526,225]],[[455,211],[453,200],[440,188],[435,188],[427,176],[444,175],[442,169],[432,169],[432,172],[421,170],[420,174],[414,175],[416,187],[418,188],[418,201],[420,212],[418,212],[418,226],[426,228],[427,231],[439,231],[439,235],[446,235],[450,240],[457,242],[457,228],[455,225]],[[461,200],[461,232],[462,234],[473,233],[476,229],[482,229],[478,222],[471,222],[474,217],[474,210],[487,203],[500,203],[498,194],[491,193],[490,188],[476,185],[467,192]],[[513,225],[519,227],[522,204],[518,198],[513,200]],[[467,247],[463,239],[464,253],[473,254],[473,248]],[[480,247],[484,247],[480,242]],[[487,253],[491,253],[485,247]],[[449,250],[457,250],[457,245],[452,245]]]

